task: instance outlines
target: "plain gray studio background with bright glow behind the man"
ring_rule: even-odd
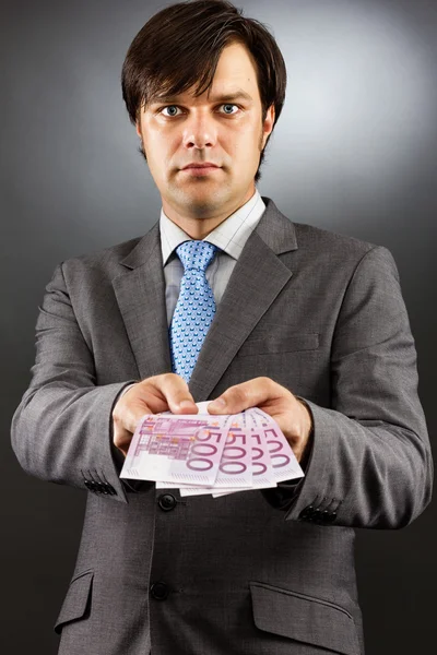
[[[26,476],[10,448],[37,306],[55,265],[144,234],[160,196],[120,93],[133,36],[166,3],[2,2],[2,653],[50,655],[83,491]],[[259,183],[292,219],[388,247],[436,428],[437,7],[433,0],[240,1],[284,53],[288,90]],[[400,532],[357,531],[368,655],[428,652],[435,508]],[[127,557],[129,553],[127,553]],[[121,654],[120,654],[121,655]]]

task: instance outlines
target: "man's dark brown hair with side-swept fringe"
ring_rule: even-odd
[[[238,41],[256,62],[262,120],[274,105],[275,124],[285,99],[285,62],[267,27],[241,14],[226,0],[193,0],[172,4],[152,16],[134,37],[122,66],[122,97],[131,122],[137,122],[150,98],[179,95],[191,87],[196,95],[204,93],[222,50]],[[255,181],[261,177],[263,157],[264,151]]]

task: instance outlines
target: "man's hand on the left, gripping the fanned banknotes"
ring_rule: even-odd
[[[160,412],[198,414],[187,382],[176,373],[163,373],[137,382],[113,410],[114,444],[126,456],[138,421],[144,414]]]

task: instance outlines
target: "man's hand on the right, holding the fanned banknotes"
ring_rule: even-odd
[[[259,407],[280,426],[296,460],[304,461],[312,428],[312,419],[306,405],[285,386],[270,378],[255,378],[229,386],[208,405],[210,414],[238,414],[249,407]]]

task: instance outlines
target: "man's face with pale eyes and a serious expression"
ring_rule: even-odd
[[[224,48],[211,87],[152,102],[142,109],[142,139],[164,211],[172,216],[229,215],[251,198],[260,153],[273,128],[262,122],[255,63],[240,44]],[[210,163],[215,167],[187,168]],[[173,212],[172,212],[173,210]]]

